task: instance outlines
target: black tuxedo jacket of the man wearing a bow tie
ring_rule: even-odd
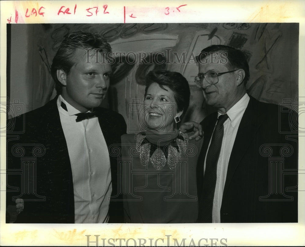
[[[7,203],[12,203],[12,196],[27,200],[16,223],[74,223],[72,170],[56,100],[8,120]],[[120,136],[126,133],[124,118],[101,107],[95,110],[101,112],[99,124],[107,146],[120,145]],[[29,161],[36,167],[26,166]],[[113,156],[110,166],[112,195],[117,195],[117,159]],[[123,222],[122,202],[110,200],[109,222]]]

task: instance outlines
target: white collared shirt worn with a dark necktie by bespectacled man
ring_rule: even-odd
[[[245,94],[231,109],[228,110],[228,119],[224,122],[224,137],[222,139],[220,155],[217,163],[217,180],[213,199],[212,222],[220,223],[220,209],[224,184],[227,177],[228,164],[237,134],[237,130],[242,120],[242,116],[249,103],[249,95]],[[218,113],[218,117],[221,113]],[[216,126],[216,125],[215,125]],[[211,140],[210,140],[211,144]],[[209,148],[210,148],[209,144]],[[209,149],[208,149],[209,150]],[[207,151],[208,152],[208,151]],[[206,168],[206,158],[204,160],[204,170]]]

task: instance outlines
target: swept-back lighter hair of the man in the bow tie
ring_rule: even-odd
[[[61,93],[63,87],[60,81],[58,81],[57,70],[63,70],[66,74],[69,74],[70,69],[76,63],[74,55],[77,48],[98,49],[107,58],[112,51],[106,39],[101,38],[98,34],[91,34],[81,30],[69,34],[59,46],[51,66],[51,75],[55,81],[57,94]]]

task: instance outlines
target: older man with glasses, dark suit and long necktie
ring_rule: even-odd
[[[293,135],[289,118],[246,93],[249,66],[240,50],[209,46],[198,66],[195,82],[217,112],[201,122],[197,222],[297,222],[297,175],[283,175],[298,167],[297,141],[286,138]],[[281,157],[278,163],[275,157]]]

